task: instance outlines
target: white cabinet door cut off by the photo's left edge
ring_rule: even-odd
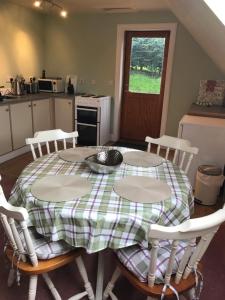
[[[0,106],[0,155],[12,151],[9,106]]]

